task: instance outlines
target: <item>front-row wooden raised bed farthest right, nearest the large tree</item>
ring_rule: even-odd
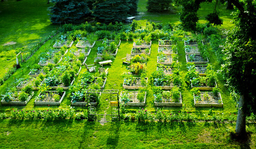
[[[194,104],[195,107],[223,107],[220,93],[214,96],[213,92],[201,92],[200,97],[194,95]]]

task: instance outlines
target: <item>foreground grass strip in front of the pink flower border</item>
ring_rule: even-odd
[[[226,131],[234,123],[111,122],[1,120],[0,148],[256,148],[256,125],[250,137],[232,140]],[[18,129],[17,129],[18,128]]]

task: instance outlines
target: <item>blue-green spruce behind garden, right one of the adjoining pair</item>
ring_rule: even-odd
[[[98,22],[119,22],[128,16],[128,2],[128,0],[95,0],[92,15]]]

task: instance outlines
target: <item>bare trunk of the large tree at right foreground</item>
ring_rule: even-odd
[[[236,133],[238,136],[243,136],[246,133],[245,125],[246,125],[246,103],[245,96],[241,95],[239,99],[238,105],[238,115],[236,120]]]

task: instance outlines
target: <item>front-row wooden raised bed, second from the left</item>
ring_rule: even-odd
[[[66,92],[62,92],[62,95],[59,101],[54,101],[54,99],[51,96],[51,93],[58,94],[57,91],[46,91],[47,97],[43,99],[42,101],[39,101],[38,99],[35,100],[35,105],[60,105],[64,96],[66,95]],[[41,96],[41,93],[38,95],[38,97]]]

